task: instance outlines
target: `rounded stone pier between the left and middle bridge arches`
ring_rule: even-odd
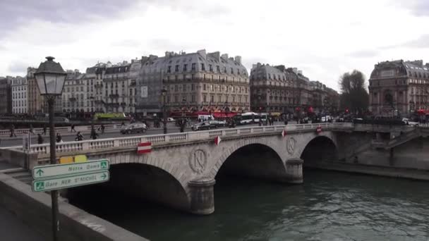
[[[214,179],[192,180],[188,183],[192,214],[207,215],[214,212],[214,183]]]

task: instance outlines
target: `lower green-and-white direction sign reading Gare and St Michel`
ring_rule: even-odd
[[[109,171],[98,171],[94,173],[80,173],[66,177],[48,178],[32,181],[33,192],[46,192],[69,187],[78,187],[95,183],[104,183],[110,179]]]

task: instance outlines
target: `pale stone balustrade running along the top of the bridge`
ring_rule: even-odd
[[[80,142],[61,142],[56,144],[57,153],[92,151],[97,149],[116,149],[121,147],[137,147],[140,142],[152,142],[152,144],[167,144],[174,142],[187,142],[193,140],[210,140],[216,136],[240,136],[240,135],[257,135],[263,133],[315,130],[316,128],[335,128],[351,129],[353,123],[315,123],[315,124],[297,124],[297,125],[268,125],[268,126],[251,126],[234,129],[217,129],[197,132],[181,132],[159,135],[143,135],[135,137],[119,137],[99,140],[84,140]],[[22,147],[11,147],[11,149],[20,149]],[[30,153],[49,155],[49,144],[35,144],[30,146]]]

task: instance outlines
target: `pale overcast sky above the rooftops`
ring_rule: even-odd
[[[206,49],[284,64],[338,89],[378,61],[429,62],[428,0],[0,0],[0,76]]]

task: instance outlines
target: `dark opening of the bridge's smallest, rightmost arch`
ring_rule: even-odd
[[[311,166],[320,161],[337,161],[338,147],[334,138],[332,138],[332,133],[331,135],[317,135],[310,138],[303,145],[300,158],[303,159],[305,166]]]

